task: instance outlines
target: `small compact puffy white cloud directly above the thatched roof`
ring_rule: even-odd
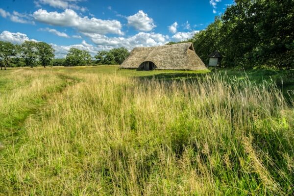
[[[142,10],[139,10],[135,15],[128,16],[127,25],[133,26],[136,30],[140,31],[150,31],[156,27],[153,23],[153,19],[149,18]]]

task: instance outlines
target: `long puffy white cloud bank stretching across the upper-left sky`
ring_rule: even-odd
[[[36,21],[49,25],[70,26],[76,28],[80,32],[99,33],[99,34],[119,34],[122,24],[117,20],[101,20],[97,18],[80,17],[75,11],[66,9],[64,12],[58,13],[47,12],[47,10],[39,9],[33,13]]]

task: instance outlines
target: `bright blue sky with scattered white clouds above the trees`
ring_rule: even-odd
[[[233,0],[1,0],[0,40],[44,41],[56,57],[191,38]]]

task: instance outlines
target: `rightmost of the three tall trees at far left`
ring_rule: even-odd
[[[46,66],[50,65],[52,59],[54,58],[54,49],[45,42],[38,42],[37,49],[39,61],[41,65],[46,68]]]

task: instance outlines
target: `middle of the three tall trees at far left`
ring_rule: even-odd
[[[33,68],[38,59],[37,43],[33,41],[25,41],[21,45],[21,55],[25,59],[25,65]]]

